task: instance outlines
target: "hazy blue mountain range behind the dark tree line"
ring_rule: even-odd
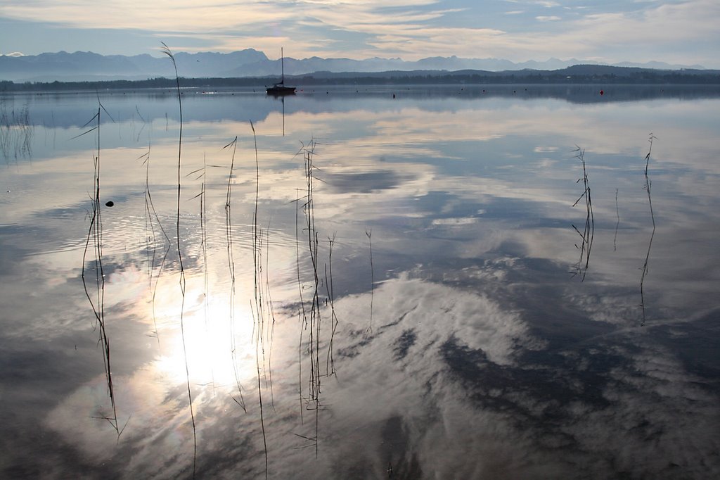
[[[246,49],[233,53],[184,53],[175,54],[180,76],[186,78],[230,78],[278,76],[280,61],[270,60],[265,53]],[[400,58],[303,58],[286,57],[284,69],[287,75],[312,74],[315,72],[382,72],[416,70],[485,70],[513,71],[526,68],[554,70],[580,63],[575,58],[547,61],[513,63],[499,58],[458,58],[429,57],[418,61],[403,61]],[[680,68],[703,69],[702,66],[670,65],[661,62],[617,63],[616,66],[659,68],[677,70]],[[0,80],[23,81],[85,81],[85,80],[143,80],[156,77],[174,76],[168,58],[152,55],[99,55],[91,52],[58,52],[40,55],[0,55]]]

